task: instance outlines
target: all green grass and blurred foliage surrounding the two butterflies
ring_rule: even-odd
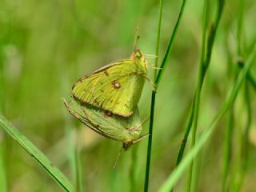
[[[78,191],[126,192],[145,182],[146,191],[254,191],[256,3],[222,2],[2,0],[0,109],[30,141],[1,118],[0,189],[62,191],[73,182]],[[149,69],[157,91],[146,82],[138,102],[142,119],[150,116],[149,145],[130,147],[113,171],[121,143],[82,126],[60,98],[78,77],[126,58],[137,26],[138,47],[158,55],[147,62],[162,70]],[[21,144],[44,154],[34,161]]]

